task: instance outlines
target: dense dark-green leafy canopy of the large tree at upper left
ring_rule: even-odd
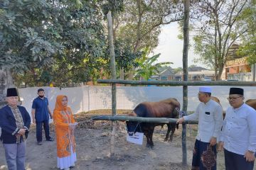
[[[41,82],[46,75],[57,84],[90,79],[93,68],[105,64],[107,50],[96,2],[4,1],[0,67],[21,73],[21,78],[32,74]]]

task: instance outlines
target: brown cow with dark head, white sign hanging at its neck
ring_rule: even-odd
[[[131,116],[138,116],[143,118],[178,118],[178,111],[180,110],[180,103],[176,98],[168,98],[158,102],[143,102],[134,108]],[[154,147],[152,140],[154,128],[158,125],[167,124],[168,130],[166,133],[165,141],[169,138],[169,141],[173,139],[176,124],[174,123],[139,123],[136,121],[127,121],[127,131],[129,135],[133,135],[135,132],[144,132],[146,135],[146,147]]]

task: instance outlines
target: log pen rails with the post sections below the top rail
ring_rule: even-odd
[[[255,81],[127,81],[127,80],[112,80],[112,79],[105,79],[105,80],[97,80],[100,84],[112,84],[112,99],[116,96],[116,88],[115,84],[131,84],[131,85],[158,85],[158,86],[256,86]],[[114,94],[114,95],[113,95]],[[183,111],[186,112],[187,110],[187,101],[188,94],[187,91],[183,91]],[[176,119],[163,119],[163,118],[130,118],[129,116],[122,116],[119,117],[116,115],[116,98],[112,102],[112,115],[111,116],[96,116],[94,120],[135,120],[140,122],[154,122],[154,123],[176,123]],[[184,102],[185,101],[185,102]],[[183,123],[182,127],[182,163],[187,164],[187,153],[186,153],[186,124],[187,123],[196,123],[193,122],[185,122]],[[112,138],[115,135],[115,126],[112,123]],[[114,143],[111,142],[111,155],[113,157]]]

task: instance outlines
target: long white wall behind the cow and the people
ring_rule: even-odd
[[[55,98],[59,94],[68,96],[69,106],[73,113],[112,108],[111,86],[80,86],[59,89],[57,87],[42,87],[48,97],[51,111],[55,106]],[[230,86],[212,86],[213,96],[220,99],[225,110],[228,107],[228,93]],[[245,89],[245,100],[256,98],[256,87],[242,87]],[[22,106],[31,113],[33,98],[37,97],[38,87],[18,89],[23,98]],[[188,87],[188,111],[194,111],[199,101],[198,86]],[[182,108],[181,86],[121,86],[117,87],[117,109],[133,109],[143,101],[160,101],[165,98],[177,98]]]

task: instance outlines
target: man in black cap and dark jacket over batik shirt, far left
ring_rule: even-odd
[[[6,163],[9,170],[25,170],[26,138],[31,118],[26,108],[17,106],[18,92],[15,88],[7,89],[7,106],[0,109],[0,127]]]

